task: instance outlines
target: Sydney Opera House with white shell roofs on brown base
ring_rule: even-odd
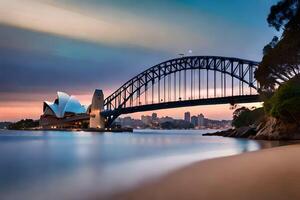
[[[57,92],[54,102],[45,101],[40,126],[43,128],[83,128],[89,124],[89,109],[74,97]]]

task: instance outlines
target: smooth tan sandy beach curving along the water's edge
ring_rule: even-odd
[[[201,161],[112,199],[300,199],[300,144]]]

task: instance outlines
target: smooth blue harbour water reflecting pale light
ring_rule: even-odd
[[[208,158],[273,146],[202,130],[87,133],[0,130],[0,199],[86,199]],[[276,145],[276,144],[275,144]]]

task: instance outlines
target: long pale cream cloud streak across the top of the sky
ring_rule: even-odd
[[[170,50],[186,46],[187,39],[205,44],[200,35],[180,29],[174,23],[151,21],[103,6],[95,12],[52,1],[1,0],[0,23],[113,45]]]

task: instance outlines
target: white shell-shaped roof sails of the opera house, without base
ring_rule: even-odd
[[[87,110],[74,96],[69,96],[64,92],[57,92],[57,99],[54,102],[45,101],[44,105],[47,105],[57,118],[63,118],[66,113],[86,113]]]

